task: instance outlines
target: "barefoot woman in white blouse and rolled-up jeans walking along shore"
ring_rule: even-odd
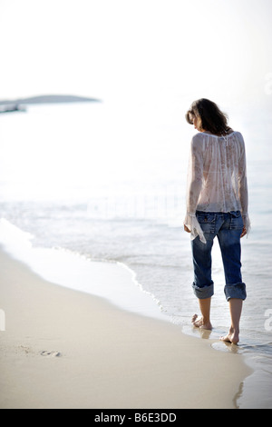
[[[191,234],[193,290],[202,317],[192,323],[211,330],[211,249],[219,239],[225,272],[225,295],[231,325],[221,340],[237,344],[243,301],[247,297],[241,276],[240,238],[249,232],[248,184],[243,136],[228,127],[227,115],[208,99],[195,101],[186,114],[199,131],[192,138],[189,157],[187,214],[184,230]]]

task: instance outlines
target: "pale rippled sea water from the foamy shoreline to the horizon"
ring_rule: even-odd
[[[144,103],[117,107],[105,102],[35,106],[27,113],[3,114],[1,230],[3,236],[3,230],[15,226],[29,233],[33,247],[81,255],[86,263],[103,260],[129,267],[141,284],[139,293],[148,293],[160,313],[180,324],[184,333],[200,337],[190,325],[199,308],[191,290],[189,234],[182,227],[194,132],[183,124],[181,107],[186,108],[177,103],[151,113]],[[248,300],[239,346],[212,346],[248,355],[254,374],[244,383],[238,406],[272,407],[271,129],[268,121],[260,129],[257,124],[243,125],[237,130],[247,144],[252,223],[251,233],[242,240]],[[213,280],[214,330],[205,337],[217,340],[229,327],[217,242]],[[94,292],[92,287],[86,291]],[[107,292],[101,290],[102,296]],[[115,297],[118,301],[118,290]],[[128,308],[127,302],[121,303]],[[252,402],[248,390],[257,383]]]

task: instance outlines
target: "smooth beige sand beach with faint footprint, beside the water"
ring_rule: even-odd
[[[0,272],[1,409],[236,408],[243,356],[48,283],[3,251]]]

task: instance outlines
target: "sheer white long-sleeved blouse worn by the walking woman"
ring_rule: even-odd
[[[193,136],[184,224],[191,232],[191,239],[199,235],[201,242],[206,243],[196,211],[241,211],[249,233],[246,152],[239,132],[226,136],[202,132]]]

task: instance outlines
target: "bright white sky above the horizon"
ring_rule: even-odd
[[[0,0],[0,98],[271,102],[271,0]]]

